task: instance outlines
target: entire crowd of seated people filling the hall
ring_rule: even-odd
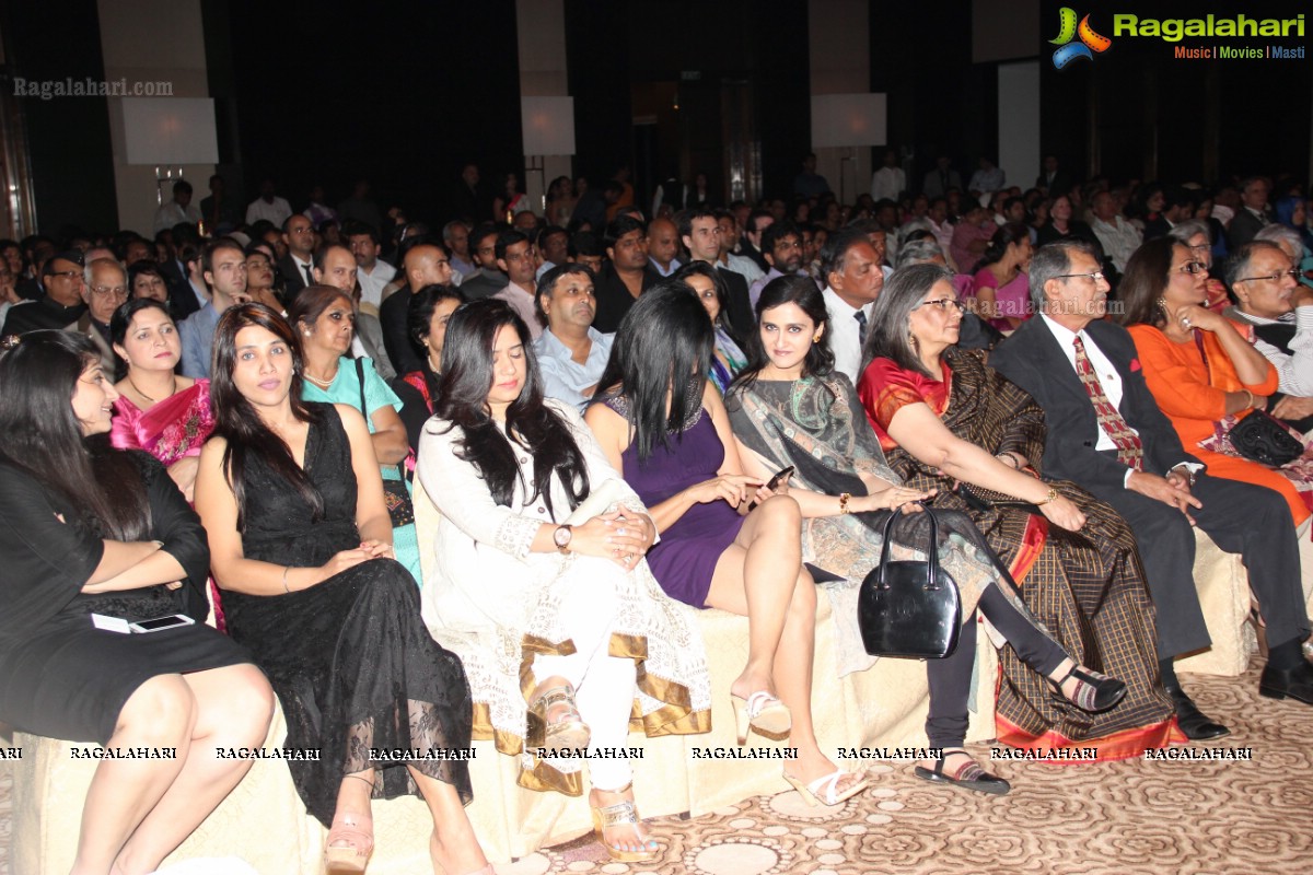
[[[1010,645],[1004,744],[1108,760],[1228,735],[1174,669],[1209,647],[1195,526],[1243,558],[1259,693],[1313,704],[1313,450],[1274,467],[1228,437],[1271,415],[1309,446],[1300,189],[1270,209],[1258,176],[1046,168],[1022,190],[982,163],[998,188],[968,192],[944,161],[934,192],[889,165],[853,205],[813,173],[793,203],[647,216],[625,180],[562,177],[538,216],[509,178],[503,223],[385,228],[269,184],[222,234],[0,241],[0,722],[190,750],[130,779],[101,763],[75,872],[154,868],[244,774],[202,748],[259,745],[273,695],[288,744],[326,752],[290,769],[334,865],[364,868],[370,802],[412,794],[435,871],[488,871],[462,763],[368,756],[471,736],[521,786],[587,778],[607,851],[655,859],[624,760],[533,752],[708,731],[684,606],[747,618],[739,743],[788,737],[781,784],[853,798],[871,779],[813,728],[818,600],[855,611],[884,523],[906,559],[927,510],[965,622],[927,662],[941,754],[916,777],[1010,788],[962,748],[977,614]],[[193,622],[104,622],[173,614]]]

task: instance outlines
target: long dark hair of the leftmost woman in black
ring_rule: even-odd
[[[108,436],[84,437],[74,413],[77,380],[98,362],[91,338],[66,331],[28,332],[0,356],[0,458],[79,508],[101,537],[150,540],[140,468]]]

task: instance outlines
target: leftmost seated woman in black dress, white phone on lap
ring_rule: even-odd
[[[100,761],[72,868],[154,871],[246,775],[249,761],[215,750],[264,741],[269,685],[207,626],[126,634],[169,614],[204,621],[209,551],[164,466],[109,447],[118,392],[92,342],[24,335],[0,357],[0,720],[176,748],[173,760]]]

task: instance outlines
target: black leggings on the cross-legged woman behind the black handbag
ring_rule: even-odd
[[[995,584],[981,593],[976,611],[985,614],[1023,662],[1045,677],[1069,656],[1061,644],[1012,607]],[[926,735],[932,748],[960,748],[966,739],[966,698],[970,694],[972,665],[976,660],[976,611],[962,623],[957,649],[945,659],[926,661],[930,681]]]

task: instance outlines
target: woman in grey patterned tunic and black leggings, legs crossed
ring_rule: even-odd
[[[852,383],[834,371],[825,337],[829,314],[814,282],[806,277],[775,279],[762,290],[756,312],[759,328],[750,345],[751,362],[726,399],[735,443],[748,474],[765,478],[794,466],[788,492],[802,510],[804,552],[810,561],[847,577],[847,582],[826,590],[836,615],[855,617],[857,582],[880,559],[889,509],[926,501],[934,488],[902,484],[885,464]],[[985,773],[961,746],[976,657],[977,606],[1011,645],[1006,652],[1018,653],[1036,677],[1049,678],[1078,707],[1109,708],[1124,687],[1120,681],[1077,665],[1036,627],[970,518],[947,510],[935,517],[940,530],[937,552],[961,592],[965,623],[957,649],[926,662],[926,735],[932,748],[943,748],[943,756],[927,760],[915,774],[1003,794],[1008,783]],[[892,555],[913,559],[907,544],[923,548],[927,526],[928,516],[915,513],[895,525]]]

